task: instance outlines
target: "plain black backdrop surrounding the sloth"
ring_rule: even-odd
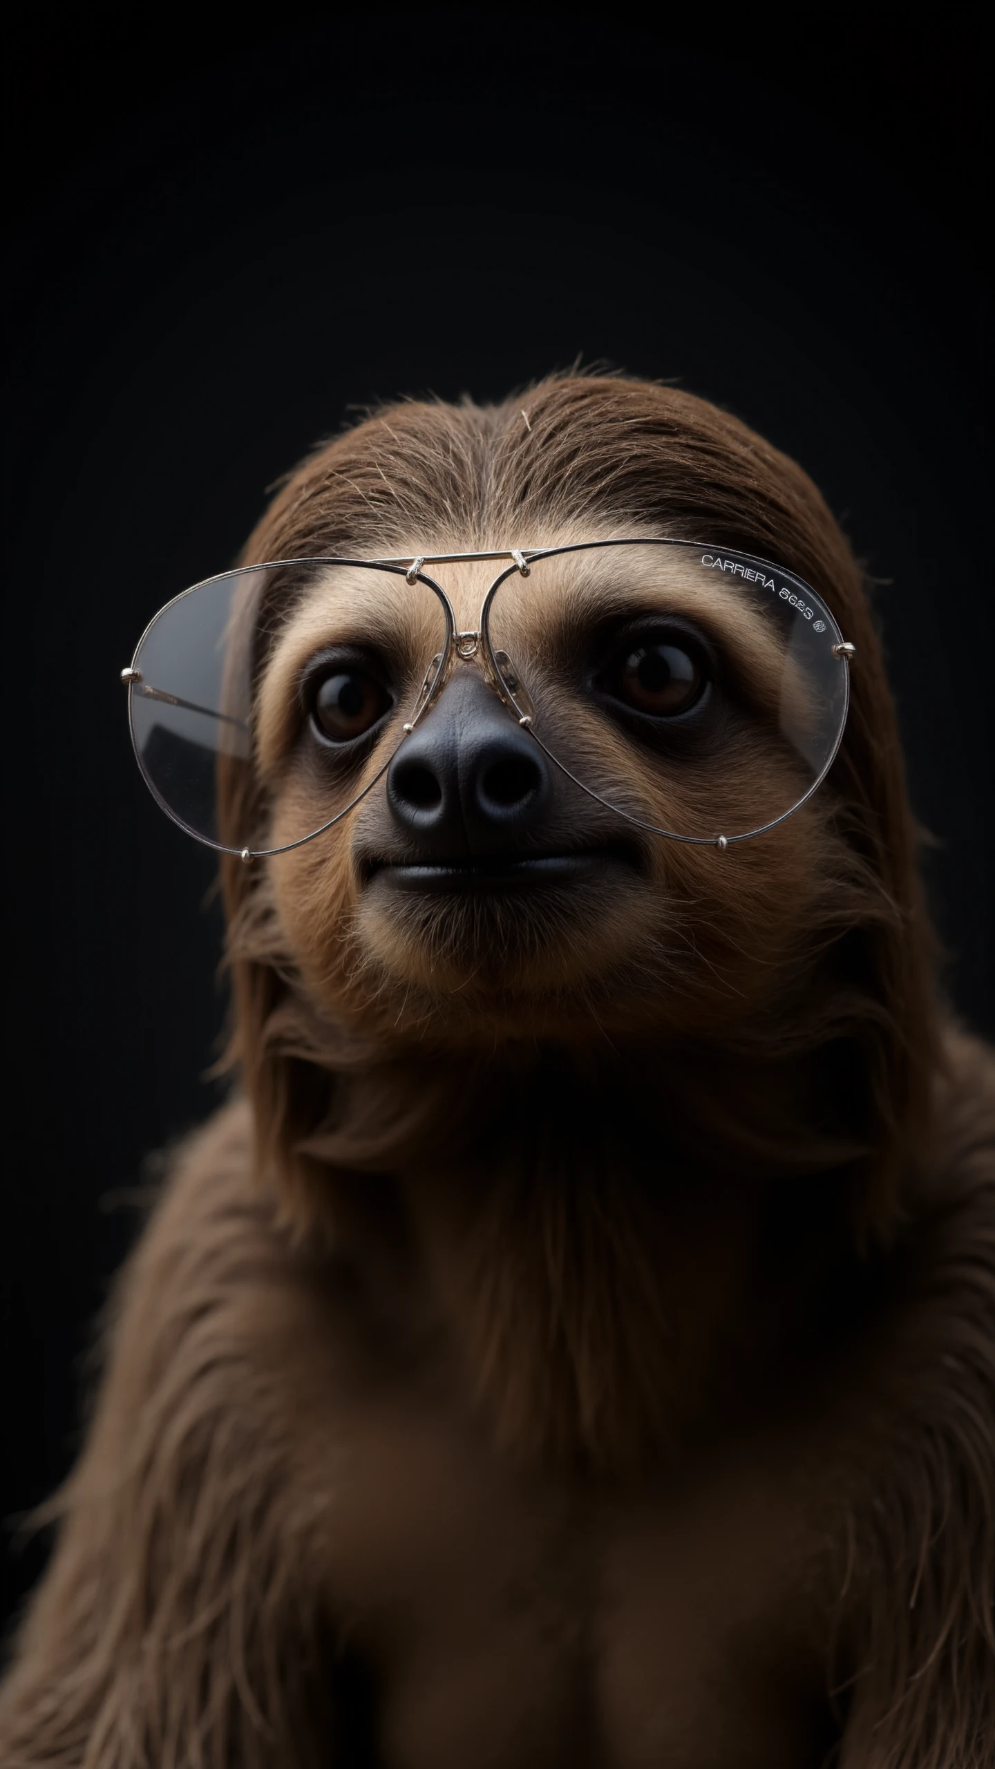
[[[604,359],[795,455],[882,580],[949,991],[995,1030],[986,99],[981,16],[947,12],[19,14],[4,1518],[67,1470],[129,1194],[214,1099],[214,869],[117,672],[358,405]],[[41,1558],[11,1548],[9,1608]]]

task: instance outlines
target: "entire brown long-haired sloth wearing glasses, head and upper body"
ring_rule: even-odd
[[[719,561],[662,635],[582,552],[623,538]],[[531,676],[482,667],[494,559],[439,564],[405,716],[451,554],[503,554]],[[726,554],[855,653],[784,817]],[[296,559],[405,570],[345,573],[345,649],[320,571],[253,616],[232,1095],[119,1281],[5,1769],[991,1764],[995,1065],[823,499],[683,391],[552,377],[319,448],[243,563]],[[713,839],[659,833],[696,794]]]

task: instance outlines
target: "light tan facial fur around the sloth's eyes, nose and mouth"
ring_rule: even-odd
[[[414,545],[413,548],[414,550]],[[567,555],[529,580],[510,582],[496,628],[540,706],[538,725],[554,754],[595,789],[609,793],[648,823],[678,824],[682,782],[667,778],[632,739],[584,704],[572,683],[568,635],[597,619],[646,605],[648,587],[627,573],[620,555]],[[689,609],[735,647],[744,674],[763,690],[775,674],[770,635],[728,587],[705,589],[683,561],[653,561],[653,605]],[[614,570],[613,570],[614,568]],[[460,630],[473,630],[492,568],[439,568]],[[567,639],[565,639],[567,635]],[[391,660],[400,699],[361,773],[338,794],[315,778],[296,681],[306,660],[331,642],[375,640]],[[267,840],[294,840],[333,816],[368,782],[372,791],[343,824],[269,862],[269,888],[282,938],[315,1005],[329,1015],[391,1040],[428,1038],[460,1047],[494,1040],[653,1033],[685,1037],[715,1015],[735,1022],[754,1010],[797,945],[811,913],[818,876],[832,865],[823,819],[802,810],[765,840],[726,854],[653,839],[614,817],[565,778],[558,810],[544,831],[549,846],[629,842],[639,870],[618,869],[590,888],[515,900],[398,902],[363,883],[370,858],[398,854],[386,805],[382,768],[402,738],[418,685],[443,646],[444,628],[430,591],[386,573],[331,570],[290,614],[260,690],[260,752],[274,782]],[[478,665],[457,663],[459,670]],[[779,679],[779,678],[777,678]],[[446,690],[443,690],[444,693]],[[294,745],[303,752],[297,759]],[[278,759],[283,755],[283,768]],[[745,798],[765,819],[777,759],[760,745],[710,762],[705,778],[683,785],[713,800],[715,826]],[[749,773],[756,780],[749,780]],[[701,775],[703,770],[698,770]],[[381,778],[377,780],[377,777]],[[777,904],[775,913],[770,906]]]

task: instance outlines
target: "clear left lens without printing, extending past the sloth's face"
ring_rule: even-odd
[[[379,778],[444,646],[441,600],[402,573],[308,561],[211,578],[135,653],[142,773],[200,840],[287,847]]]

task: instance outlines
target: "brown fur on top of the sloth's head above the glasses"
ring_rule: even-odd
[[[499,405],[405,400],[375,412],[290,474],[246,561],[627,529],[756,552],[816,589],[853,573],[823,499],[786,455],[690,393],[604,375],[549,379]]]

